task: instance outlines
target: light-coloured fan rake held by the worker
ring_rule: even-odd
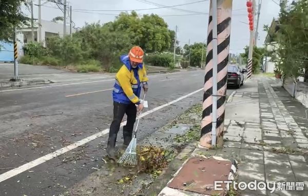
[[[145,99],[145,93],[143,95],[142,103],[144,103],[144,99]],[[139,113],[136,129],[134,130],[133,139],[130,141],[130,143],[127,146],[125,152],[123,153],[123,155],[118,160],[119,164],[131,165],[131,166],[137,165],[137,138],[136,138],[136,135],[137,135],[139,121],[140,121],[140,118],[141,118],[140,116],[141,116],[141,111]]]

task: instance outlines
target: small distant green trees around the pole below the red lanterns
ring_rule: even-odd
[[[248,53],[249,53],[249,47],[246,46],[244,48],[245,53],[241,53],[241,57],[243,58],[244,63],[247,64],[248,62]],[[253,73],[258,73],[261,68],[263,56],[266,54],[265,48],[259,48],[257,46],[254,46],[253,51]]]

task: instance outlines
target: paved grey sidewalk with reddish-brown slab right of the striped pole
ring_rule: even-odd
[[[222,175],[234,183],[261,183],[261,190],[233,188],[228,195],[308,195],[305,108],[266,77],[253,78],[244,86],[226,105],[224,147],[197,148],[159,195],[227,195],[227,191],[214,190],[214,181]],[[202,161],[208,164],[196,167]],[[215,173],[222,164],[229,171]],[[262,188],[264,183],[268,185]]]

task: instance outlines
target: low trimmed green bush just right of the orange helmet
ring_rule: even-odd
[[[152,66],[162,66],[162,67],[169,67],[174,68],[175,62],[172,54],[168,53],[151,53],[145,56],[146,63]]]

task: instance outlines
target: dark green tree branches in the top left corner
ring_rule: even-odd
[[[27,5],[27,0],[0,1],[0,40],[11,40],[14,27],[26,24],[28,17],[22,12],[23,4]]]

